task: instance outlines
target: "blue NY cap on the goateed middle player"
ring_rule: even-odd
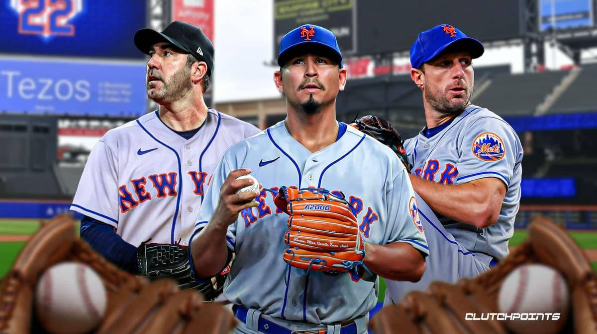
[[[303,24],[282,37],[278,65],[282,67],[292,56],[307,52],[325,52],[340,68],[343,67],[342,54],[334,33],[313,24]]]

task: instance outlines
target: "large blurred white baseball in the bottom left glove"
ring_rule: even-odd
[[[77,262],[44,271],[35,290],[39,322],[53,334],[81,334],[96,327],[106,311],[106,288],[100,276]]]

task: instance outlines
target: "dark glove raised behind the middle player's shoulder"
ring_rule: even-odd
[[[354,120],[350,125],[391,148],[398,155],[404,167],[407,168],[408,173],[410,173],[413,164],[408,161],[407,151],[402,146],[404,145],[404,141],[392,123],[378,116],[367,115]]]

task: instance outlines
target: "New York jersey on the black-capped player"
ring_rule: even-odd
[[[70,210],[116,228],[134,246],[187,244],[208,180],[224,151],[259,132],[209,109],[201,129],[184,139],[158,111],[109,130],[85,164]]]

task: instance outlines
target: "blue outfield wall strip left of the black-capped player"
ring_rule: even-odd
[[[70,211],[69,208],[69,201],[0,200],[0,218],[50,219],[63,213],[81,218],[81,214]]]

